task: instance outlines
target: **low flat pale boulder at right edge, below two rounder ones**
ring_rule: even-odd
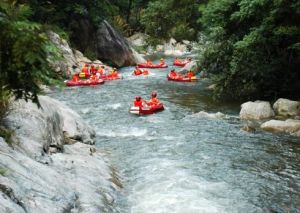
[[[300,136],[300,120],[288,119],[286,121],[270,120],[261,125],[261,128],[270,132],[283,132]]]

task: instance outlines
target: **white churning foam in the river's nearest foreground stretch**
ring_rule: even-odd
[[[178,161],[155,159],[146,163],[128,198],[130,212],[225,212],[219,203],[226,203],[226,199],[214,196],[226,190],[225,183],[201,180]]]

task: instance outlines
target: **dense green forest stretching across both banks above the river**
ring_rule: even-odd
[[[198,41],[199,65],[217,84],[216,98],[300,97],[300,2],[297,0],[1,0],[1,108],[12,91],[36,100],[56,78],[46,56],[58,50],[53,30],[88,56],[103,20],[151,44],[171,37]]]

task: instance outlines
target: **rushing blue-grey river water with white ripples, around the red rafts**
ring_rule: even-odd
[[[168,82],[167,70],[135,77],[122,68],[123,80],[51,94],[95,128],[97,147],[109,153],[123,184],[114,211],[300,212],[300,140],[241,131],[239,105],[213,102],[205,80]],[[128,113],[135,96],[153,90],[163,112]]]

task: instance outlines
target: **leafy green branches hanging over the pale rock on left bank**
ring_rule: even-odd
[[[53,72],[47,57],[56,53],[43,27],[28,20],[30,7],[15,1],[0,3],[0,96],[31,99],[38,103],[40,83],[50,83]]]

